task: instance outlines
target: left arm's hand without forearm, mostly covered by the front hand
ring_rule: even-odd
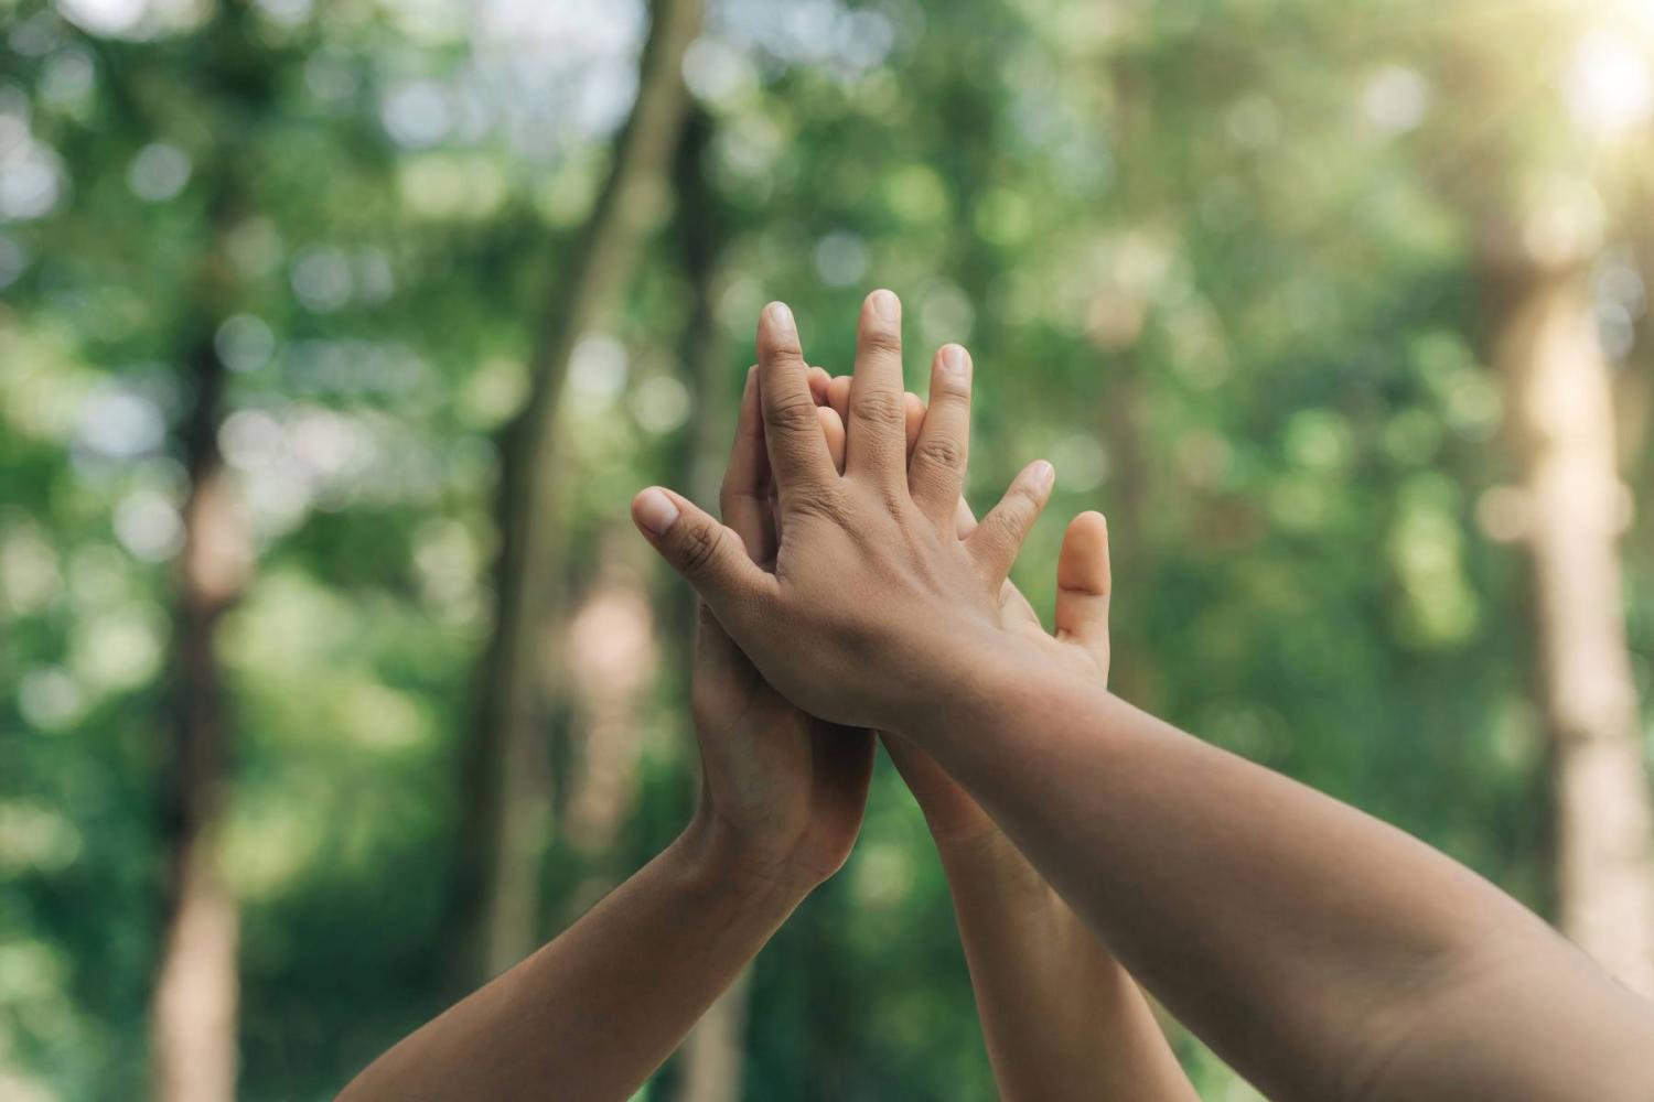
[[[817,380],[825,395],[825,372]],[[842,421],[832,410],[819,418],[824,438],[842,451]],[[759,568],[772,567],[776,525],[754,373],[741,395],[721,511],[741,553]],[[705,605],[690,696],[701,750],[700,823],[744,869],[801,891],[837,872],[862,826],[872,735],[817,720],[782,699]]]

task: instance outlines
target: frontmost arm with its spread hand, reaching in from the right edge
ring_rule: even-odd
[[[670,491],[638,494],[633,519],[769,684],[930,753],[1131,975],[1272,1097],[1654,1097],[1651,1006],[1520,904],[1131,707],[1060,639],[1002,621],[996,573],[1049,468],[958,539],[969,383],[933,380],[905,464],[893,294],[862,311],[842,476],[784,306],[766,307],[758,347],[774,572]]]

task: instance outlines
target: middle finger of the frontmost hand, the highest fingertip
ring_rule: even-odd
[[[873,291],[862,302],[855,337],[855,375],[845,420],[847,474],[906,487],[903,393],[901,302],[890,291]]]

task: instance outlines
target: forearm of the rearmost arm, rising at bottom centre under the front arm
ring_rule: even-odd
[[[938,851],[1002,1099],[1196,1097],[1136,983],[999,829]]]

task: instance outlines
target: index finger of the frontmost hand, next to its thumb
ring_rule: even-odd
[[[786,507],[791,496],[824,489],[834,469],[815,420],[799,329],[784,302],[771,302],[758,319],[758,398],[771,477]]]

